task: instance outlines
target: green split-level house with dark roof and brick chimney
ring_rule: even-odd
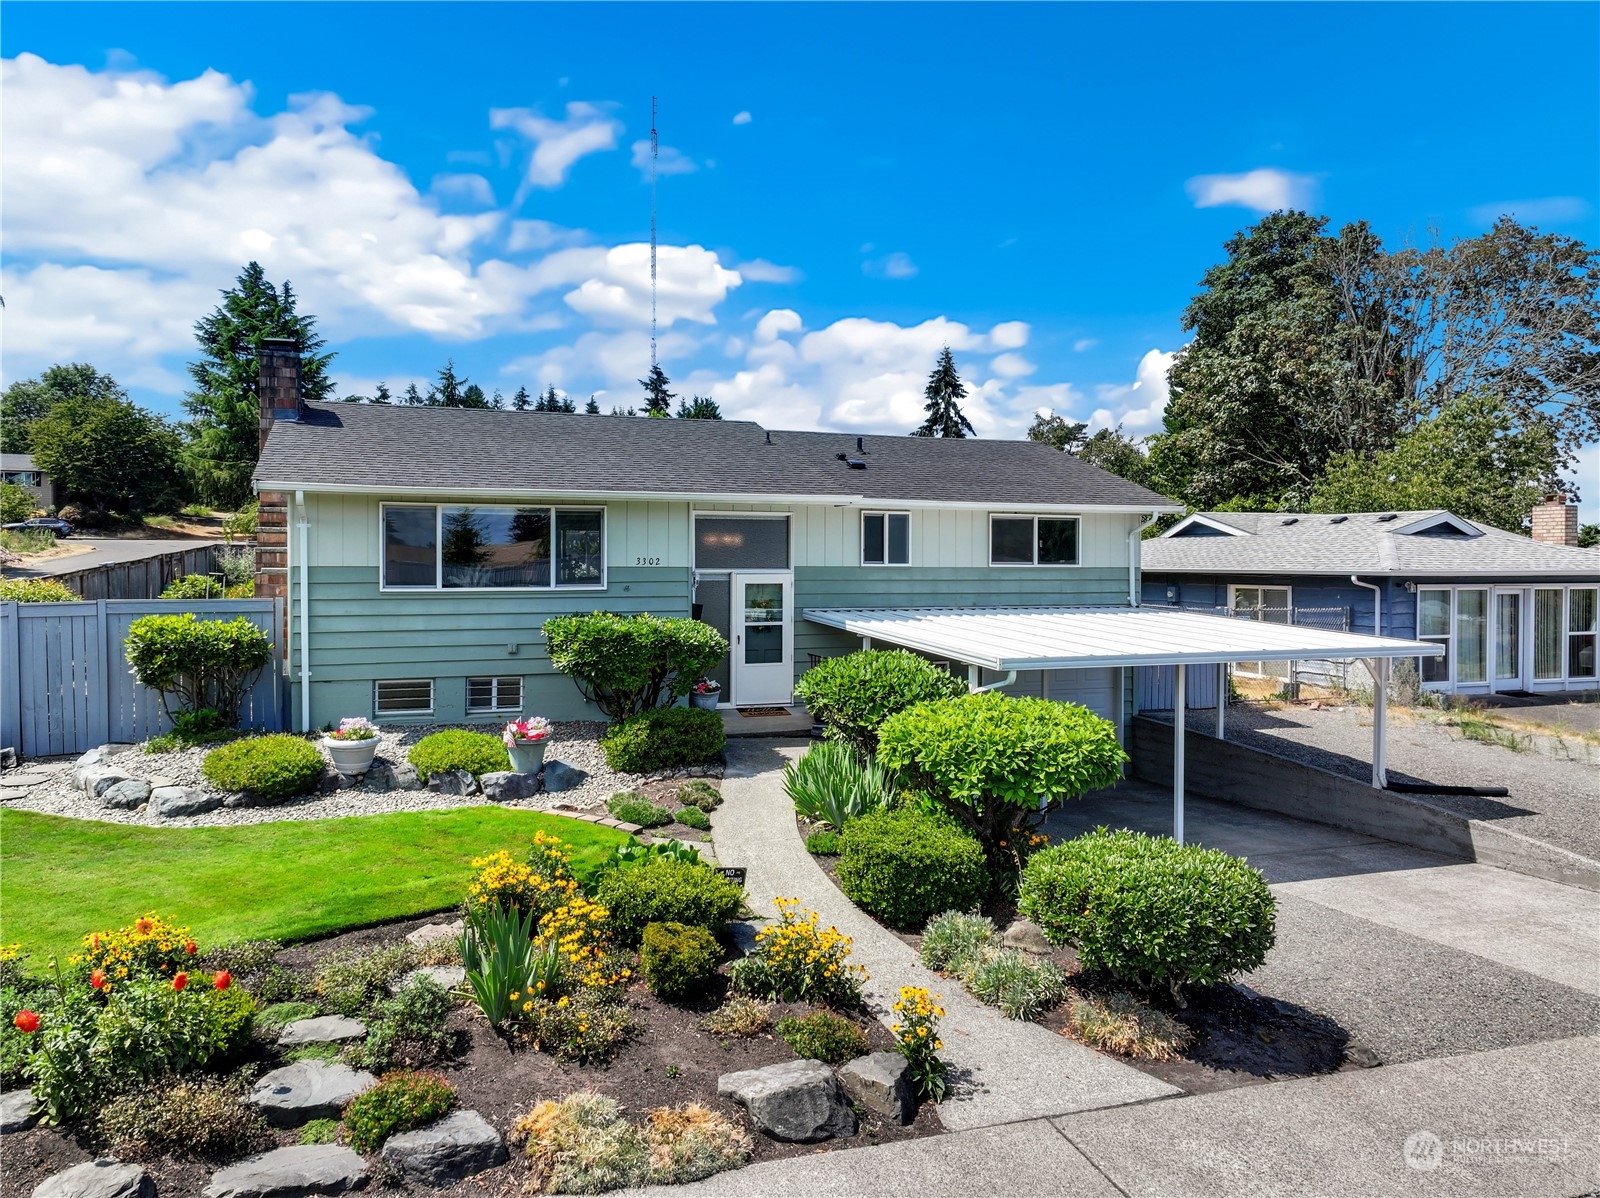
[[[293,360],[291,355],[285,355]],[[859,648],[808,608],[1120,605],[1170,501],[1032,441],[739,421],[301,403],[262,384],[258,593],[286,598],[293,721],[598,718],[546,619],[693,616],[722,701],[784,705]],[[1019,677],[1120,717],[1122,672]]]

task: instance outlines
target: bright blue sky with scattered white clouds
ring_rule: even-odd
[[[453,357],[632,401],[656,94],[682,390],[902,432],[949,342],[982,435],[1144,433],[1195,282],[1266,208],[1595,240],[1597,14],[13,3],[3,376],[91,360],[176,409],[192,321],[258,258],[344,390]]]

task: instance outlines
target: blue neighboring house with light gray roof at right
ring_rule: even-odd
[[[1446,510],[1200,512],[1142,557],[1147,605],[1442,645],[1418,664],[1427,689],[1597,686],[1600,550],[1578,549],[1578,509],[1562,499],[1533,512],[1531,537]],[[1286,677],[1286,662],[1250,665]]]

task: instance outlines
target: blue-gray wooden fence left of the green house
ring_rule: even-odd
[[[272,661],[245,696],[245,728],[283,728],[282,600],[85,600],[0,603],[0,747],[21,757],[82,753],[171,728],[162,696],[128,672],[123,641],[139,616],[243,616],[272,638]]]

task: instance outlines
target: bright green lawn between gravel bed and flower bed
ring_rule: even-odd
[[[189,924],[203,945],[312,936],[445,910],[472,857],[522,857],[544,830],[582,872],[629,838],[576,819],[506,808],[306,819],[234,829],[158,829],[0,809],[0,944],[35,964],[91,931],[146,912]]]

